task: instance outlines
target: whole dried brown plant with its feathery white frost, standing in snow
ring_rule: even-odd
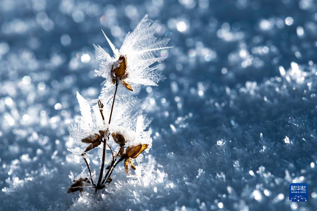
[[[140,101],[127,93],[127,90],[139,90],[140,85],[157,85],[157,82],[164,80],[164,76],[155,71],[158,65],[150,65],[166,58],[156,55],[160,50],[169,48],[165,47],[169,39],[157,40],[154,36],[156,26],[152,25],[152,22],[147,15],[144,16],[133,32],[126,35],[120,50],[117,50],[104,34],[113,50],[113,57],[102,47],[94,45],[96,58],[100,60],[96,76],[102,76],[106,81],[97,100],[88,102],[77,92],[81,116],[69,124],[68,130],[79,147],[68,150],[83,158],[89,176],[84,170],[74,179],[71,172],[69,177],[73,184],[68,188],[68,193],[78,190],[82,192],[84,187],[93,187],[96,190],[105,188],[107,183],[111,183],[111,175],[121,161],[124,161],[126,173],[129,173],[129,166],[136,170],[133,159],[143,151],[148,152],[152,147],[151,130],[145,131],[151,120],[145,115],[131,113]],[[118,90],[120,84],[122,86]],[[119,96],[116,100],[117,94]],[[90,104],[94,105],[91,107]],[[105,168],[107,147],[112,156]],[[89,166],[88,152],[95,148],[100,149],[99,177]]]

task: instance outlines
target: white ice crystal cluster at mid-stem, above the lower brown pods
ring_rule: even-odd
[[[111,91],[111,89],[110,89]],[[110,92],[109,91],[109,92]],[[111,96],[110,93],[106,96]],[[113,107],[113,113],[111,117],[111,124],[108,124],[110,116],[113,97],[103,100],[103,115],[105,122],[100,115],[100,109],[98,105],[92,107],[94,113],[91,112],[91,107],[87,100],[85,100],[78,92],[77,99],[80,105],[81,117],[74,120],[69,124],[69,133],[74,141],[81,146],[81,148],[68,149],[70,152],[81,156],[81,153],[85,151],[87,144],[82,142],[82,139],[98,134],[99,130],[107,130],[109,128],[110,133],[120,132],[124,135],[127,142],[127,146],[136,145],[139,143],[148,144],[146,152],[152,147],[152,138],[150,137],[151,130],[144,131],[150,124],[151,119],[146,118],[145,115],[131,115],[134,107],[139,103],[139,100],[132,96],[118,95],[115,99],[115,106]],[[113,141],[110,143],[114,149],[117,147]],[[86,158],[86,157],[85,157]]]

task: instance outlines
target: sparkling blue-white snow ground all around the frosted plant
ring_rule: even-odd
[[[316,210],[317,5],[266,1],[0,1],[1,210]],[[167,79],[137,95],[153,118],[145,175],[67,194],[66,122],[95,99],[94,47],[149,14],[170,37]],[[91,158],[98,169],[99,160]],[[147,162],[148,161],[148,162]],[[140,165],[141,165],[140,164]],[[288,185],[308,184],[308,201]]]

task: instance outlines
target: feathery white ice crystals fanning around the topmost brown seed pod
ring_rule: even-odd
[[[165,77],[155,71],[158,65],[150,67],[155,62],[161,62],[166,57],[157,57],[161,50],[169,48],[165,47],[169,38],[158,39],[154,36],[156,25],[152,24],[152,20],[148,15],[139,22],[133,32],[126,35],[125,40],[120,48],[116,49],[112,42],[104,33],[112,51],[113,57],[103,50],[102,47],[95,46],[96,59],[100,60],[99,70],[96,75],[106,78],[105,87],[111,86],[113,80],[112,69],[120,66],[120,56],[126,56],[127,78],[124,83],[130,84],[133,90],[139,90],[139,85],[154,85]]]

